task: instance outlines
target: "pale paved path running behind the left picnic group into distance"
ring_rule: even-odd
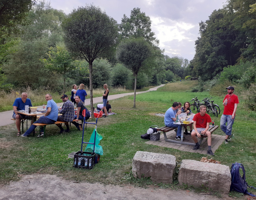
[[[136,95],[137,94],[141,94],[141,93],[144,93],[144,92],[150,92],[150,91],[156,91],[157,88],[160,88],[162,86],[164,86],[165,84],[162,84],[162,85],[159,85],[159,86],[156,86],[154,88],[150,88],[149,90],[147,91],[142,91],[142,92],[136,92]],[[108,100],[113,100],[113,99],[118,99],[120,97],[124,97],[124,96],[128,96],[128,95],[134,95],[134,92],[129,92],[129,93],[122,93],[122,94],[117,94],[117,95],[109,95],[108,96]],[[93,103],[102,103],[102,97],[95,97],[93,98]],[[33,102],[32,102],[33,104]],[[58,106],[62,105],[63,103],[57,103]],[[90,99],[86,99],[85,102],[84,102],[85,105],[90,105]],[[37,106],[38,108],[42,108],[42,105],[40,106]],[[13,115],[13,110],[11,111],[5,111],[5,112],[0,112],[0,126],[5,126],[5,125],[9,125],[9,124],[12,124],[12,123],[15,123],[14,120],[11,120],[12,119],[12,115]]]

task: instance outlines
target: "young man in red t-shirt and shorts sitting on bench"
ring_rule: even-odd
[[[197,138],[201,138],[202,136],[207,136],[207,143],[208,143],[208,151],[207,154],[214,155],[211,150],[211,132],[208,131],[209,124],[211,123],[210,115],[206,114],[206,106],[200,105],[200,112],[197,113],[194,118],[194,129],[191,132],[191,137],[196,145],[193,147],[193,150],[200,149],[200,145],[197,141]]]

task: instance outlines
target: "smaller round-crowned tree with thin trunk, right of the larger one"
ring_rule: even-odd
[[[122,62],[128,69],[131,69],[134,81],[133,107],[135,108],[136,83],[139,70],[142,70],[145,61],[150,57],[151,47],[144,38],[129,38],[120,43],[117,48],[117,60]]]

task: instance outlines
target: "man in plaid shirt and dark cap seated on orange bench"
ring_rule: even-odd
[[[74,105],[71,101],[69,101],[68,96],[65,94],[62,95],[60,98],[62,99],[64,104],[62,108],[59,109],[59,113],[62,115],[58,116],[57,121],[65,122],[65,125],[67,126],[67,129],[65,130],[65,132],[69,132],[70,130],[69,130],[68,122],[73,122],[74,116],[75,116]],[[64,129],[62,128],[61,124],[56,124],[56,125],[60,128],[60,133],[62,133]]]

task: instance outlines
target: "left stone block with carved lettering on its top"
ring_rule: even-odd
[[[137,151],[132,160],[134,177],[151,177],[153,182],[172,183],[176,157],[169,154]]]

